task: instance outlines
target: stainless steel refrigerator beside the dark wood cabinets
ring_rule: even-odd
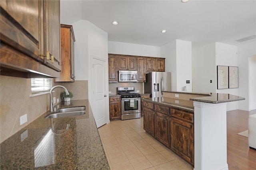
[[[170,72],[149,72],[146,74],[144,93],[150,93],[151,98],[162,97],[162,91],[171,91]]]

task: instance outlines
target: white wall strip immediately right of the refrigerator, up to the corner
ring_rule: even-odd
[[[176,41],[172,41],[161,47],[161,55],[165,58],[165,71],[171,72],[171,90],[177,89],[176,72]]]

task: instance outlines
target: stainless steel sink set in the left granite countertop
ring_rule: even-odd
[[[85,114],[85,106],[81,107],[69,107],[58,109],[55,112],[52,112],[46,115],[44,118],[58,118],[58,117],[70,117],[70,116],[78,116]]]

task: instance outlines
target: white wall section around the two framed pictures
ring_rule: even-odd
[[[237,46],[228,45],[224,43],[215,43],[215,44],[216,44],[216,57],[215,57],[216,66],[238,66],[238,55],[237,55],[238,47]],[[239,67],[238,67],[238,77],[240,76],[244,76],[244,75],[239,73]],[[216,78],[217,78],[217,71],[216,71]],[[238,96],[238,88],[217,89],[216,93],[228,93],[228,94],[233,94]],[[238,102],[228,102],[227,111],[234,110],[234,109],[238,109]]]

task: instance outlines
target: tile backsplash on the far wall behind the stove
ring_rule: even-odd
[[[108,83],[108,91],[111,92],[112,94],[116,94],[117,87],[134,87],[135,92],[137,92],[137,90],[139,90],[140,93],[143,92],[143,83],[135,83],[135,82]]]

